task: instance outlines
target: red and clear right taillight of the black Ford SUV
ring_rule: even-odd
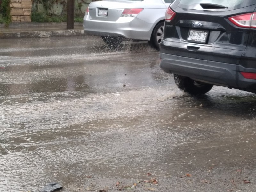
[[[256,12],[229,17],[232,23],[238,27],[256,28]]]

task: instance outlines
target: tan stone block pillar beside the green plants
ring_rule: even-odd
[[[31,0],[11,0],[10,8],[12,22],[31,22]]]

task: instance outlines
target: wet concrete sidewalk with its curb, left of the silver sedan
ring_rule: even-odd
[[[83,23],[75,23],[71,30],[66,23],[11,23],[8,28],[0,24],[0,39],[60,36],[85,36]]]

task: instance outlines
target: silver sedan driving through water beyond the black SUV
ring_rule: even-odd
[[[123,40],[147,40],[159,49],[165,12],[174,0],[103,0],[90,3],[84,16],[84,31],[101,36],[111,46]]]

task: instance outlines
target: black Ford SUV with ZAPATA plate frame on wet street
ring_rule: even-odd
[[[255,8],[255,0],[176,0],[166,11],[160,67],[192,95],[213,85],[256,93]]]

